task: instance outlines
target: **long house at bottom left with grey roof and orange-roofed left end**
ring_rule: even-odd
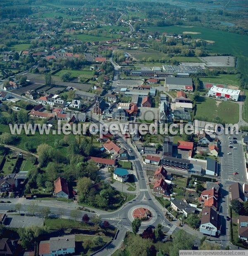
[[[39,256],[59,256],[75,253],[75,235],[51,237],[49,241],[41,241]]]

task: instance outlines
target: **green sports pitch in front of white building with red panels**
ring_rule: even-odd
[[[237,103],[227,101],[223,101],[219,105],[216,103],[216,99],[200,97],[199,102],[196,103],[195,119],[216,122],[216,118],[219,117],[223,123],[238,123],[239,106]]]

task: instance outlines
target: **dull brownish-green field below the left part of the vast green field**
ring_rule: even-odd
[[[127,50],[126,53],[128,53],[134,60],[169,60],[169,57],[165,55],[165,53],[149,49],[149,48],[143,48],[143,49],[137,49],[137,50]],[[150,65],[152,65],[150,63]]]

